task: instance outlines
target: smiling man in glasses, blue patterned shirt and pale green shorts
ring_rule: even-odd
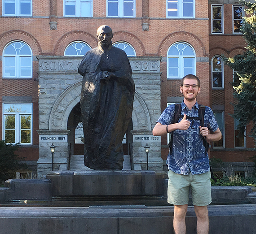
[[[173,123],[174,104],[168,106],[157,124],[153,135],[173,133],[172,152],[167,158],[168,165],[168,203],[174,204],[173,227],[176,234],[185,234],[185,215],[191,188],[194,210],[197,216],[197,233],[208,234],[209,220],[207,205],[212,202],[211,173],[208,154],[203,138],[208,143],[221,139],[221,131],[211,108],[205,108],[204,126],[200,120],[188,120],[199,117],[199,105],[196,97],[200,93],[200,80],[189,74],[182,78],[180,91],[184,96],[181,103],[181,117]]]

